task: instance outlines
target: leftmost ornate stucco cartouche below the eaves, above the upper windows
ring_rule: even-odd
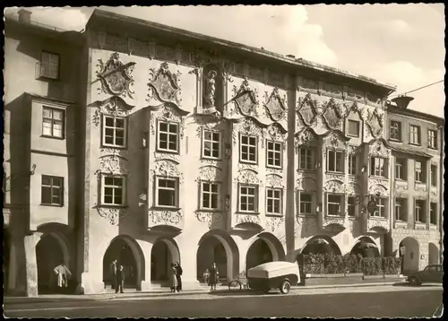
[[[123,97],[127,95],[130,98],[134,98],[134,91],[130,89],[134,83],[132,77],[134,65],[135,63],[133,62],[123,64],[116,52],[110,55],[106,63],[99,59],[97,77],[99,82],[101,82],[100,91],[108,95]]]

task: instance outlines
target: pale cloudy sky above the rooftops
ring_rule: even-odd
[[[444,80],[444,4],[98,8],[362,74],[396,85],[391,98]],[[94,7],[29,9],[37,22],[82,30]],[[410,109],[444,117],[444,82],[409,96]]]

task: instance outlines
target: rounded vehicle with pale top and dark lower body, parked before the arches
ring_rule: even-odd
[[[247,270],[249,288],[255,291],[269,292],[279,289],[288,294],[291,285],[300,282],[298,265],[290,262],[276,261],[257,265]]]

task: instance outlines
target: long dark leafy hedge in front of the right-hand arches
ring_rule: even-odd
[[[361,255],[309,254],[302,256],[299,260],[303,262],[303,272],[312,274],[398,274],[401,268],[401,257],[393,256],[363,257]]]

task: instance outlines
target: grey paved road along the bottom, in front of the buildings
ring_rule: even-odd
[[[4,304],[5,317],[433,317],[443,288],[371,287],[271,294],[209,293],[152,298]]]

